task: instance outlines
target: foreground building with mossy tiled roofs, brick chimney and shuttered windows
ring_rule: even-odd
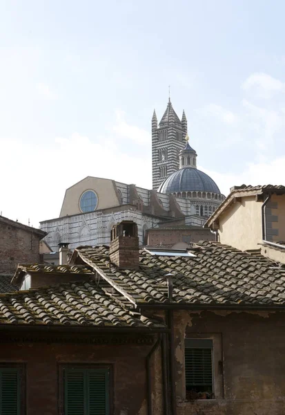
[[[3,413],[283,414],[284,269],[216,242],[139,250],[137,234],[124,221],[110,248],[18,268],[21,291],[0,295]]]

